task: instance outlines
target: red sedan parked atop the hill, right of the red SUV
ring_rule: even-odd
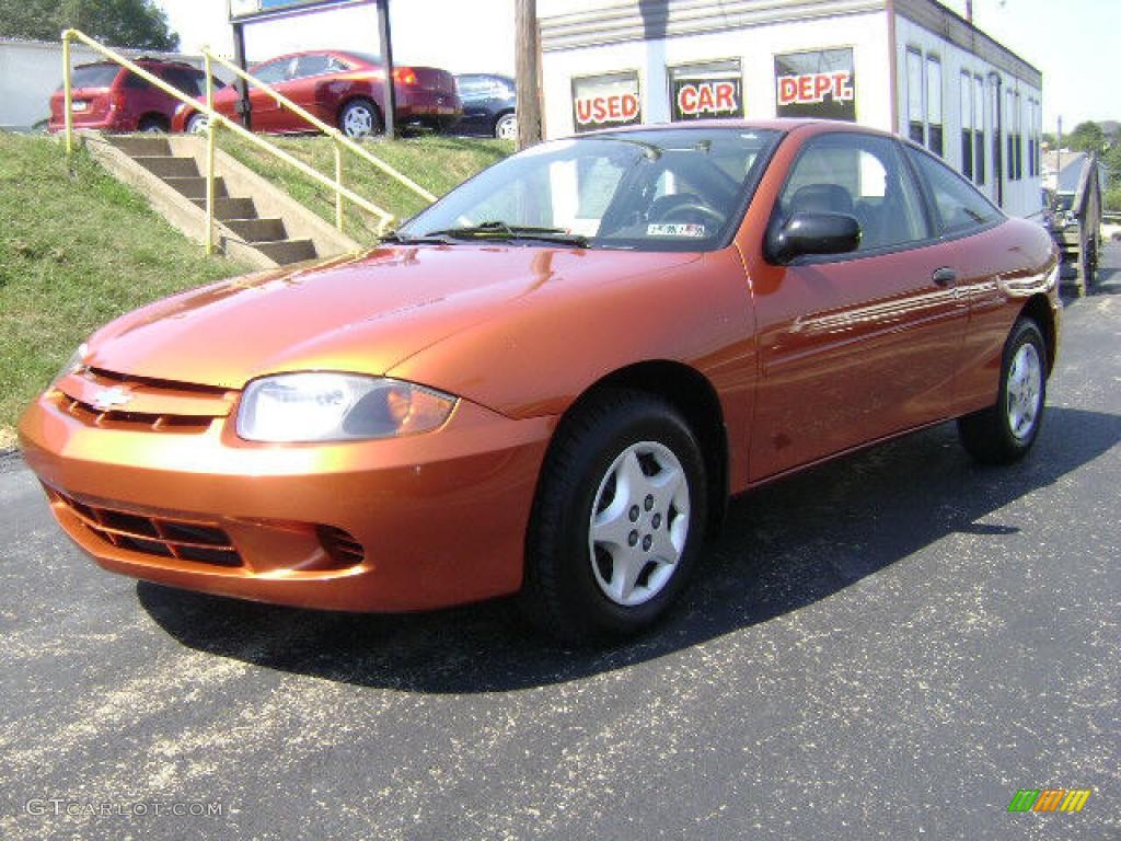
[[[277,93],[337,126],[349,137],[378,135],[385,126],[381,110],[386,73],[380,59],[363,53],[325,50],[293,53],[249,68]],[[395,67],[397,122],[445,129],[462,113],[455,77],[435,67]],[[205,93],[205,92],[204,92]],[[237,115],[239,93],[230,86],[214,98],[219,113]],[[250,90],[254,131],[307,131],[307,122],[280,108],[266,91]],[[183,105],[176,111],[176,131],[202,131],[206,115]]]

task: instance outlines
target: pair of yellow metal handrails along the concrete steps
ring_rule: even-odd
[[[261,149],[263,149],[268,154],[272,155],[274,157],[278,158],[279,160],[282,160],[284,163],[288,164],[289,166],[295,167],[296,169],[298,169],[299,172],[304,173],[305,175],[307,175],[313,181],[318,182],[323,186],[325,186],[325,187],[330,188],[332,192],[334,192],[334,194],[335,194],[335,224],[336,224],[336,227],[340,230],[342,230],[342,228],[343,228],[343,198],[346,198],[351,203],[356,204],[359,207],[362,207],[363,210],[368,211],[369,213],[372,213],[373,215],[378,216],[378,219],[379,219],[378,232],[379,233],[383,232],[387,228],[389,228],[390,223],[393,221],[393,215],[391,213],[389,213],[388,211],[379,207],[373,202],[371,202],[371,201],[369,201],[369,200],[367,200],[367,198],[358,195],[352,190],[349,190],[348,187],[343,186],[343,183],[342,183],[342,154],[341,154],[341,146],[342,147],[346,147],[349,150],[354,151],[358,155],[360,155],[361,157],[365,158],[368,161],[370,161],[371,164],[373,164],[374,166],[377,166],[383,173],[386,173],[390,177],[396,178],[398,182],[400,182],[405,186],[407,186],[410,190],[413,190],[414,192],[416,192],[418,195],[420,195],[421,197],[424,197],[426,201],[433,202],[433,201],[436,200],[436,197],[432,193],[429,193],[428,191],[424,190],[423,187],[420,187],[418,184],[414,183],[413,181],[410,181],[406,176],[401,175],[396,169],[393,169],[391,166],[389,166],[385,161],[378,159],[377,157],[374,157],[373,155],[371,155],[370,153],[368,153],[365,149],[362,149],[360,146],[358,146],[352,140],[350,140],[350,138],[346,138],[345,136],[343,136],[342,132],[340,132],[337,129],[334,129],[333,127],[327,126],[326,123],[322,122],[321,120],[317,120],[315,117],[313,117],[312,114],[307,113],[304,109],[302,109],[295,102],[291,102],[287,98],[278,94],[276,91],[272,91],[268,85],[266,85],[265,83],[260,82],[257,78],[253,78],[248,73],[243,73],[240,67],[237,67],[235,65],[231,65],[229,62],[226,62],[225,59],[221,58],[220,56],[215,56],[215,55],[211,54],[209,49],[207,50],[203,50],[203,57],[204,57],[205,70],[206,70],[206,102],[205,102],[205,104],[203,104],[203,103],[198,102],[196,99],[193,99],[193,98],[188,96],[187,94],[183,93],[182,91],[177,90],[176,87],[173,87],[172,85],[167,84],[164,80],[161,80],[158,76],[149,73],[148,71],[146,71],[143,67],[139,66],[138,64],[129,61],[128,58],[126,58],[123,55],[121,55],[120,53],[115,52],[114,49],[111,49],[110,47],[106,47],[106,46],[104,46],[102,44],[99,44],[96,40],[94,40],[93,38],[89,37],[84,33],[78,31],[77,29],[66,29],[65,31],[63,31],[62,39],[63,39],[63,64],[64,64],[64,67],[63,67],[63,95],[64,95],[63,108],[64,108],[64,118],[63,118],[63,120],[64,120],[65,130],[66,130],[66,154],[67,155],[72,154],[73,150],[74,150],[73,86],[72,86],[72,83],[71,83],[71,46],[70,46],[72,40],[78,40],[82,44],[85,44],[87,47],[90,47],[94,52],[100,53],[101,55],[105,56],[110,61],[112,61],[112,62],[121,65],[122,67],[126,67],[127,70],[131,71],[132,73],[135,73],[140,78],[143,78],[146,82],[148,82],[149,84],[151,84],[155,87],[159,89],[160,91],[163,91],[167,95],[169,95],[169,96],[178,100],[179,102],[183,102],[183,103],[185,103],[187,105],[191,105],[195,110],[201,111],[204,114],[206,114],[206,118],[207,118],[207,142],[206,142],[206,147],[207,147],[206,148],[206,240],[205,240],[206,253],[212,253],[213,252],[213,248],[214,248],[214,130],[215,130],[216,127],[220,127],[220,126],[224,126],[225,128],[229,128],[231,131],[233,131],[239,137],[242,137],[245,140],[249,140],[250,142],[252,142],[256,146],[260,147]],[[332,181],[327,176],[323,175],[323,173],[318,172],[317,169],[315,169],[314,167],[309,166],[308,164],[305,164],[303,160],[299,160],[298,158],[296,158],[296,157],[291,156],[290,154],[286,153],[284,149],[280,149],[279,147],[274,146],[272,144],[270,144],[268,140],[266,140],[265,138],[260,137],[259,135],[254,135],[253,132],[248,131],[242,126],[238,124],[237,122],[233,122],[232,120],[228,119],[226,117],[224,117],[223,114],[221,114],[221,113],[219,113],[217,111],[214,110],[214,89],[213,89],[213,76],[211,74],[211,66],[212,66],[211,63],[212,63],[212,61],[215,61],[215,59],[220,64],[222,64],[223,66],[226,66],[231,71],[235,72],[239,76],[242,76],[243,78],[245,78],[245,81],[249,82],[250,84],[253,84],[253,85],[257,85],[259,87],[262,87],[266,92],[268,92],[277,101],[278,104],[287,107],[294,113],[298,113],[299,115],[302,115],[305,119],[307,119],[309,122],[312,122],[313,124],[315,124],[321,130],[324,130],[325,133],[332,136],[332,138],[335,140],[335,179],[334,181]]]

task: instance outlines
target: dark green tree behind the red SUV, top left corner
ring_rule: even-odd
[[[70,27],[118,47],[179,48],[152,0],[0,0],[0,37],[58,40]]]

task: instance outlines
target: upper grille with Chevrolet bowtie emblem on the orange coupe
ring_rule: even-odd
[[[228,389],[131,377],[99,368],[87,368],[59,382],[58,406],[86,426],[197,434],[206,432],[215,418],[230,414]],[[99,406],[99,395],[114,391],[121,406]]]

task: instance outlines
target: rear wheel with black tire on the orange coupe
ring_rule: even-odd
[[[1029,348],[1021,354],[1021,349]],[[1031,352],[1034,350],[1034,354]],[[1031,359],[1037,363],[1038,391],[1037,397],[1028,403],[1035,403],[1036,409],[1030,414],[1017,412],[1017,395],[1022,388],[1012,383],[1013,362],[1020,357],[1020,364],[1030,368]],[[1010,398],[1010,388],[1012,396]],[[1026,403],[1019,403],[1026,409]],[[1012,332],[1004,344],[1004,357],[1000,367],[1000,386],[997,390],[997,403],[986,409],[975,412],[957,419],[957,432],[962,444],[970,455],[983,464],[1010,464],[1022,459],[1039,436],[1044,414],[1047,406],[1047,344],[1039,325],[1031,318],[1020,318],[1012,326]],[[1023,422],[1015,423],[1019,415]]]

